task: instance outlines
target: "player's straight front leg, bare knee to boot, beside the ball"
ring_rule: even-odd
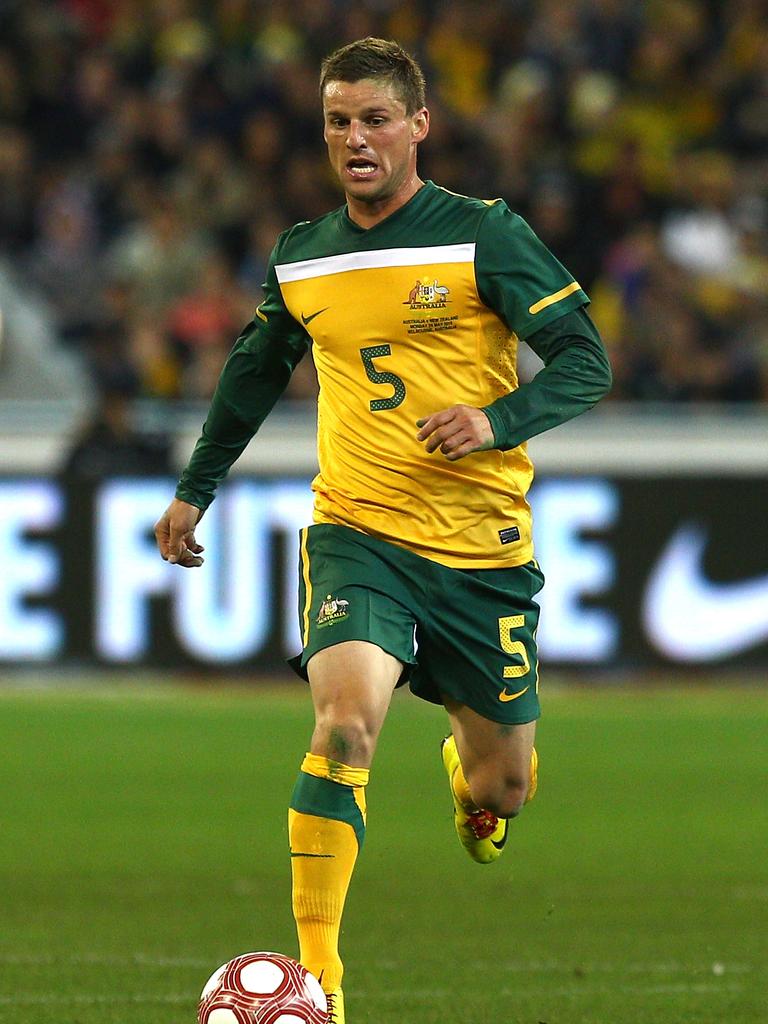
[[[332,1019],[343,1021],[339,929],[365,835],[369,768],[402,665],[350,640],[318,651],[307,671],[315,726],[289,811],[293,912],[301,963],[334,993]]]

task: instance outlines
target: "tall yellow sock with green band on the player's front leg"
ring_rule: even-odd
[[[367,768],[307,754],[288,812],[299,958],[327,992],[344,971],[339,932],[366,831],[368,776]]]

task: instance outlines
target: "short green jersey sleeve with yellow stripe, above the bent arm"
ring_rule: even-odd
[[[501,200],[485,212],[475,243],[479,296],[519,338],[527,340],[589,302],[562,263]]]

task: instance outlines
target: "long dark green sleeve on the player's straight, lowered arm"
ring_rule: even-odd
[[[271,412],[307,350],[309,336],[286,309],[269,260],[264,301],[221,371],[202,435],[181,474],[176,497],[207,509],[216,487]]]

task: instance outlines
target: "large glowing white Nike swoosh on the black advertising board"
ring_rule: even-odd
[[[645,590],[645,632],[676,660],[726,657],[768,640],[768,575],[713,583],[703,570],[708,543],[707,530],[698,523],[681,526]]]

